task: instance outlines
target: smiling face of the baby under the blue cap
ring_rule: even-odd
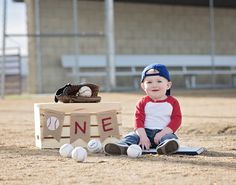
[[[146,74],[157,74],[155,76],[145,77],[141,84],[142,89],[153,100],[166,99],[166,91],[171,88],[171,82],[166,78],[158,75],[159,71],[151,69]]]

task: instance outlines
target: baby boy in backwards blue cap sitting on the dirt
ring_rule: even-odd
[[[151,64],[143,70],[141,88],[146,96],[136,105],[134,131],[118,143],[107,143],[106,154],[126,155],[131,144],[142,149],[156,148],[158,154],[173,154],[178,150],[174,133],[181,125],[182,114],[178,101],[170,95],[171,85],[166,66]]]

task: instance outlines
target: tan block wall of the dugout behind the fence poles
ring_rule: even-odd
[[[28,31],[35,31],[34,1],[26,0]],[[41,33],[72,33],[72,1],[40,1]],[[79,32],[104,30],[104,2],[78,1]],[[216,53],[236,54],[236,9],[215,9]],[[115,2],[116,54],[209,54],[209,11],[207,7]],[[29,39],[29,92],[39,92],[35,38]],[[76,79],[68,76],[60,57],[76,54],[75,39],[41,38],[42,91],[54,92]],[[103,38],[80,38],[80,54],[104,54]],[[92,81],[93,82],[93,81]],[[100,80],[99,83],[102,83]],[[102,84],[101,84],[102,85]]]

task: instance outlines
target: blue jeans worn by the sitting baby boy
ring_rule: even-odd
[[[152,130],[152,129],[145,128],[145,131],[146,131],[148,139],[151,142],[150,148],[156,148],[157,145],[154,142],[154,137],[156,133],[160,132],[161,130],[159,129]],[[178,139],[178,137],[175,134],[166,134],[161,138],[160,143],[164,142],[166,139],[173,139],[173,138]],[[132,145],[132,144],[139,144],[139,140],[140,138],[135,132],[130,132],[126,136],[124,136],[118,143]]]

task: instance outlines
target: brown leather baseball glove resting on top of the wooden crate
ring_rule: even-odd
[[[91,89],[89,95],[81,93],[80,89],[87,86]],[[87,89],[89,89],[87,88]],[[64,87],[56,91],[54,101],[57,103],[61,101],[63,103],[96,103],[101,101],[101,97],[98,96],[99,86],[91,83],[82,83],[79,85],[66,84]]]

